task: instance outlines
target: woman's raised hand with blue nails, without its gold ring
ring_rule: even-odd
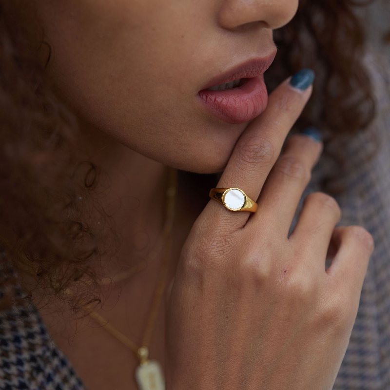
[[[169,390],[333,386],[373,239],[359,226],[335,228],[340,208],[320,192],[305,198],[288,238],[322,143],[294,135],[280,152],[311,92],[283,82],[215,186],[241,188],[256,213],[210,199],[183,246],[167,317]]]

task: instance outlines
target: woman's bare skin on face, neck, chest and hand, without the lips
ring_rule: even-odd
[[[180,197],[179,209],[187,212],[175,226],[172,295],[169,289],[151,346],[169,390],[330,390],[348,345],[372,237],[361,227],[334,229],[337,203],[315,194],[287,239],[321,144],[294,136],[288,158],[277,158],[311,88],[302,93],[286,82],[262,115],[236,125],[212,117],[195,100],[210,78],[272,53],[272,30],[292,19],[297,3],[20,0],[8,5],[15,15],[32,7],[19,17],[26,25],[34,24],[32,17],[39,20],[53,47],[47,77],[80,120],[75,153],[94,160],[112,179],[105,205],[118,197],[140,199],[131,213],[140,227],[138,247],[130,239],[121,246],[123,263],[145,256],[156,241],[165,165],[224,171],[215,187],[234,182],[258,198],[259,212],[249,217],[214,200],[203,210],[192,208],[194,199],[185,203]],[[119,233],[133,237],[134,225],[122,224],[122,211],[114,216]],[[325,272],[330,243],[336,261]],[[112,294],[110,310],[103,312],[135,341],[142,335],[158,266],[150,263],[137,274],[119,299]],[[136,389],[131,351],[91,323],[77,322],[75,331],[75,321],[52,309],[42,310],[44,320],[88,389]]]

